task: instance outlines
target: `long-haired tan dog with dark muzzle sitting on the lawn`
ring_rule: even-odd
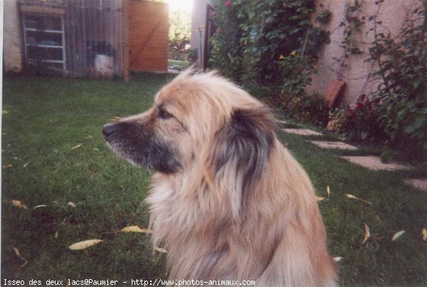
[[[336,284],[312,183],[275,129],[247,92],[191,70],[147,112],[103,127],[118,156],[157,171],[147,202],[170,279]]]

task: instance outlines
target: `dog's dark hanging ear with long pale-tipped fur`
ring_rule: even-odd
[[[257,182],[264,176],[275,128],[268,108],[238,109],[214,136],[209,153],[212,179],[228,193],[233,214],[240,219],[245,216]]]

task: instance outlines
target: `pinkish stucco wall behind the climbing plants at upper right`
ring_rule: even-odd
[[[327,31],[331,32],[331,43],[326,45],[320,53],[320,60],[317,63],[319,73],[312,77],[312,87],[310,90],[315,90],[321,94],[325,94],[328,85],[332,80],[343,80],[346,82],[344,92],[344,103],[355,102],[359,94],[368,94],[376,90],[379,80],[372,75],[376,70],[376,65],[365,60],[369,58],[368,48],[374,40],[374,35],[369,32],[373,27],[373,23],[368,21],[368,17],[375,15],[378,10],[376,0],[360,1],[361,13],[359,18],[365,16],[365,24],[362,26],[362,31],[354,37],[354,43],[357,48],[362,50],[360,55],[351,55],[345,64],[347,67],[340,68],[340,60],[344,55],[342,40],[344,38],[344,27],[340,27],[339,23],[343,21],[345,9],[348,4],[354,3],[354,0],[323,0],[318,1],[323,4],[321,9],[328,9],[332,12],[330,23],[323,26]],[[412,11],[413,7],[419,4],[417,0],[386,0],[378,11],[378,21],[382,21],[382,26],[388,31],[397,36],[401,31],[402,24],[406,16]]]

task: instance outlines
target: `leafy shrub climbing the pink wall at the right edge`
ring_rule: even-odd
[[[369,60],[378,64],[382,80],[375,95],[381,128],[392,145],[419,157],[427,155],[427,1],[418,2],[397,37],[382,33],[381,21],[369,17],[374,21]]]

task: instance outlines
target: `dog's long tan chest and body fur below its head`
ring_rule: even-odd
[[[246,221],[231,216],[229,210],[233,202],[224,190],[213,190],[215,185],[209,184],[204,175],[194,178],[199,172],[154,175],[147,198],[150,225],[154,229],[154,247],[161,245],[169,251],[170,278],[256,280],[256,286],[267,286],[271,278],[277,278],[275,286],[334,284],[334,271],[330,269],[334,265],[332,262],[330,266],[320,266],[317,261],[301,255],[329,258],[326,247],[320,244],[319,249],[317,242],[292,242],[295,232],[307,233],[307,237],[320,237],[323,242],[326,234],[321,218],[317,218],[318,207],[310,180],[295,160],[289,161],[288,151],[277,139],[275,144],[278,146],[265,170],[270,176],[264,176],[265,180],[258,183],[258,193],[251,200]],[[201,170],[200,166],[195,165],[194,168]],[[273,175],[275,170],[283,172]],[[294,184],[283,185],[283,180],[275,178],[288,178],[285,181]],[[280,190],[280,193],[274,190]],[[301,197],[295,197],[293,193],[300,190],[306,191]],[[296,198],[299,202],[295,202]],[[310,213],[312,218],[304,220],[307,210],[313,210]],[[319,220],[318,224],[313,224]],[[263,236],[255,236],[255,233]],[[288,246],[286,241],[292,244]],[[300,253],[293,245],[307,251]],[[287,257],[278,258],[275,256],[277,251]],[[312,265],[306,266],[307,261]],[[277,269],[277,266],[286,268]],[[307,269],[315,269],[319,278],[310,275],[314,272]],[[322,276],[331,278],[329,283],[320,281]]]

